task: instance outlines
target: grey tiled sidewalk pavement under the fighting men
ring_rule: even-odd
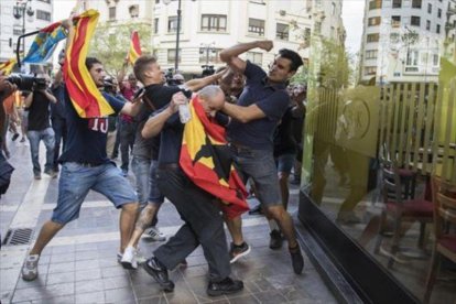
[[[31,228],[25,245],[2,245],[0,250],[1,303],[336,303],[307,257],[304,272],[293,273],[286,242],[269,249],[269,226],[262,216],[243,216],[243,234],[251,253],[232,264],[232,276],[243,280],[245,290],[229,296],[208,297],[207,263],[200,248],[188,259],[187,268],[171,272],[176,286],[163,293],[142,269],[124,270],[117,262],[119,210],[104,196],[90,192],[80,217],[68,224],[46,247],[40,259],[40,276],[33,282],[20,278],[25,254],[41,225],[51,218],[57,198],[58,180],[43,174],[33,180],[28,143],[9,140],[15,171],[8,193],[0,199],[1,240],[14,228]],[[44,154],[41,146],[41,156]],[[44,160],[42,161],[44,163]],[[130,173],[129,178],[134,181]],[[291,185],[289,210],[296,219],[298,189]],[[251,206],[256,202],[249,202]],[[165,202],[159,213],[159,227],[172,236],[182,225],[174,206]],[[228,235],[228,232],[227,232]],[[162,242],[140,241],[149,257]],[[304,252],[303,252],[304,253]]]

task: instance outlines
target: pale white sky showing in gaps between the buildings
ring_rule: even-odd
[[[105,0],[93,0],[105,1]],[[239,1],[239,0],[231,0]],[[245,1],[245,0],[242,0]],[[276,0],[280,1],[280,0]],[[296,0],[297,1],[297,0]],[[300,0],[302,1],[302,0]],[[323,0],[329,1],[329,0]],[[343,0],[343,20],[347,31],[346,46],[350,53],[356,53],[360,47],[362,35],[362,17],[365,0]],[[69,12],[76,4],[76,0],[55,0],[54,1],[54,20],[62,20],[69,15]]]

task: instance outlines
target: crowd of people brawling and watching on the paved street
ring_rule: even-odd
[[[72,26],[66,26],[70,32]],[[78,218],[82,204],[93,189],[121,210],[117,259],[123,268],[134,270],[142,263],[163,291],[172,292],[174,283],[169,270],[186,264],[186,258],[200,245],[208,263],[207,294],[216,296],[243,289],[241,280],[230,276],[230,264],[251,251],[242,236],[241,216],[221,213],[215,196],[197,186],[180,165],[185,123],[180,120],[178,109],[191,98],[210,121],[226,130],[230,159],[242,182],[249,181],[254,188],[260,208],[269,219],[270,248],[281,248],[285,239],[292,269],[302,273],[304,259],[286,207],[289,176],[296,155],[302,153],[295,130],[302,129],[305,112],[305,89],[287,85],[303,62],[296,52],[280,50],[267,73],[240,58],[253,48],[269,52],[273,43],[256,41],[222,50],[224,68],[188,82],[176,74],[172,84],[166,84],[165,73],[151,55],[140,56],[133,73],[127,76],[126,63],[118,77],[107,76],[102,63],[87,57],[93,82],[115,111],[110,117],[79,117],[62,70],[52,84],[47,75],[37,76],[45,85],[34,87],[23,98],[26,137],[36,180],[41,178],[40,141],[46,146],[44,173],[59,176],[58,197],[52,218],[42,226],[23,264],[23,280],[37,278],[41,252],[67,222]],[[65,56],[61,56],[59,64],[65,65]],[[0,85],[2,99],[17,89],[4,77]],[[2,127],[8,124],[4,117],[2,111]],[[12,120],[17,122],[15,117]],[[4,132],[0,140],[6,141]],[[112,161],[119,149],[120,169]],[[130,164],[134,187],[127,178]],[[149,259],[143,259],[138,245],[144,231],[154,240],[166,239],[156,228],[165,198],[175,206],[184,224]]]

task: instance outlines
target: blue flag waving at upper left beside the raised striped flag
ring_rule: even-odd
[[[65,37],[66,33],[61,21],[40,30],[22,62],[33,64],[46,62],[54,53],[57,43]]]

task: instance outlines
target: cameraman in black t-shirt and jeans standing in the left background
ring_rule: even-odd
[[[30,152],[33,163],[33,175],[35,180],[41,180],[41,166],[39,161],[40,141],[46,146],[46,163],[44,173],[51,177],[56,177],[54,171],[54,145],[55,133],[50,123],[50,104],[57,102],[57,99],[48,90],[50,78],[47,75],[36,76],[37,82],[32,87],[32,91],[25,98],[25,108],[29,109],[29,130],[26,137],[30,141]],[[40,79],[40,80],[39,80]],[[41,80],[43,79],[43,80]]]

